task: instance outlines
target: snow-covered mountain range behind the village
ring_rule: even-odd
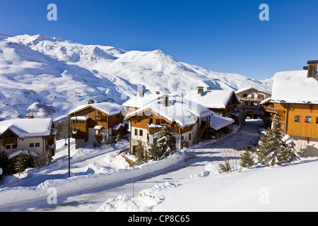
[[[44,35],[0,32],[0,120],[61,117],[88,100],[122,104],[144,92],[184,93],[197,86],[214,90],[254,87],[271,93],[272,79],[185,64],[160,50],[129,51],[84,45]]]

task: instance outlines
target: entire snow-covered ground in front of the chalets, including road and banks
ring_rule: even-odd
[[[52,165],[3,179],[0,211],[317,211],[316,157],[291,166],[240,169],[240,150],[257,143],[260,126],[261,120],[247,120],[218,141],[134,168],[117,155],[128,142],[71,146],[70,179],[67,148],[59,141]],[[218,164],[226,153],[233,172],[220,174]]]

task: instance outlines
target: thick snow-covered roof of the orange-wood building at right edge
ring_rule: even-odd
[[[283,71],[273,80],[271,102],[318,105],[318,81],[307,78],[307,71]]]

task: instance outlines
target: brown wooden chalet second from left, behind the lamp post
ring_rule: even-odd
[[[117,134],[124,135],[127,125],[123,121],[126,110],[122,105],[112,102],[88,102],[69,112],[72,137],[76,148],[89,143],[113,143]]]

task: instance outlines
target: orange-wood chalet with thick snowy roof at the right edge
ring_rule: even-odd
[[[271,100],[262,103],[267,117],[282,119],[301,156],[318,156],[318,61],[308,61],[305,71],[276,73]]]

